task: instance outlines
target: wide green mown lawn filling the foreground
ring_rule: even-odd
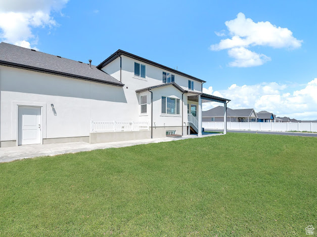
[[[229,133],[0,164],[0,236],[305,235],[317,138]]]

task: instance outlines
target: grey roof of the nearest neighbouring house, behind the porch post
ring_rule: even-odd
[[[203,117],[220,117],[223,116],[223,106],[217,106],[207,111],[203,111]],[[249,117],[253,109],[231,109],[227,108],[227,116],[231,117]],[[255,115],[255,113],[254,113]]]

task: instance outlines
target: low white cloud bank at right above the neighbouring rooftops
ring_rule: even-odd
[[[278,83],[260,83],[238,86],[233,84],[226,90],[214,91],[212,87],[203,88],[203,92],[231,99],[228,106],[232,109],[254,108],[255,111],[267,110],[278,116],[288,116],[299,120],[317,119],[317,78],[293,90],[291,85]],[[219,103],[203,103],[208,110]]]

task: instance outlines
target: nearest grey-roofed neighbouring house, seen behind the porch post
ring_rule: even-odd
[[[227,108],[227,122],[256,122],[254,109]],[[203,122],[223,122],[223,107],[217,106],[203,111]]]

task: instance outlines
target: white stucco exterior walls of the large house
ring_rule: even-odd
[[[0,66],[0,139],[6,144],[15,144],[17,139],[18,105],[41,106],[43,122],[41,125],[43,143],[52,142],[55,138],[88,137],[90,121],[151,121],[151,93],[148,95],[147,114],[141,114],[140,93],[136,90],[162,84],[161,68],[146,65],[146,78],[134,76],[134,61],[122,57],[122,83],[124,87],[93,83],[75,78],[63,77],[47,73]],[[138,61],[136,61],[138,62]],[[106,67],[108,72],[120,80],[120,58]],[[168,71],[166,71],[168,72]],[[188,90],[189,78],[175,75],[175,83]],[[201,91],[201,83],[194,81],[195,91]],[[153,126],[180,127],[182,112],[184,126],[187,126],[187,94],[173,86],[153,89]],[[161,97],[170,96],[180,99],[179,115],[161,113]],[[192,102],[197,105],[198,103]],[[54,109],[51,108],[54,104]],[[184,110],[183,110],[184,108]],[[197,117],[198,119],[198,117]],[[165,129],[166,130],[166,129]],[[164,131],[165,131],[164,130]],[[182,133],[177,130],[177,133]],[[164,132],[165,134],[165,132]],[[160,135],[161,136],[161,135]],[[69,138],[69,139],[66,139]],[[51,140],[49,140],[51,139]],[[86,139],[86,138],[85,138]],[[56,140],[57,141],[57,140]]]

